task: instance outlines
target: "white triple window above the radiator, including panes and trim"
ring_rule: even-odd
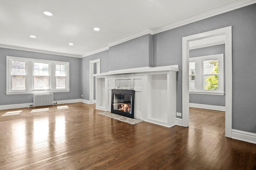
[[[69,92],[69,63],[6,57],[6,94]]]

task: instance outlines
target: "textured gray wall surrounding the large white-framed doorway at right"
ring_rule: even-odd
[[[178,64],[177,111],[182,112],[182,37],[232,26],[232,128],[256,133],[256,4],[153,35],[154,66]],[[228,76],[228,75],[226,75]],[[226,87],[228,88],[228,87]]]

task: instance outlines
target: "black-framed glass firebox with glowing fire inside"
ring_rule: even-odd
[[[112,89],[111,113],[134,118],[134,90]]]

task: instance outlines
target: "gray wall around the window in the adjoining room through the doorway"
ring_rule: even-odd
[[[224,54],[224,73],[225,73],[225,45],[214,45],[189,51],[189,57],[199,57],[205,55]],[[225,89],[225,74],[224,74]],[[225,106],[225,96],[207,94],[189,94],[189,102],[196,104],[208,104],[214,106]]]

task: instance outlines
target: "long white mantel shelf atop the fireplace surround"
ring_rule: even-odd
[[[93,74],[95,77],[104,77],[109,75],[115,74],[133,74],[133,73],[161,73],[161,72],[169,72],[179,71],[178,65],[171,65],[171,66],[159,66],[159,67],[140,67],[140,68],[131,68],[131,69],[124,69],[124,70],[114,70],[109,72],[104,72],[100,74]]]

